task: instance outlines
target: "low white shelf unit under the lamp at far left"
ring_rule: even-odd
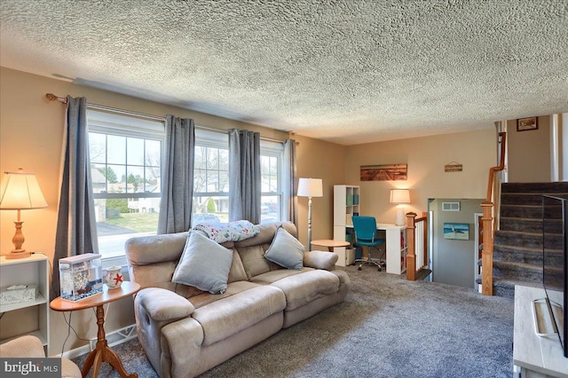
[[[12,285],[36,285],[36,299],[0,304],[0,343],[19,335],[35,335],[42,341],[49,356],[49,258],[40,253],[11,260],[0,256],[0,287]]]

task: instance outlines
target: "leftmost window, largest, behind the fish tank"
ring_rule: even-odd
[[[126,240],[158,228],[164,123],[91,109],[87,120],[99,252],[122,259]]]

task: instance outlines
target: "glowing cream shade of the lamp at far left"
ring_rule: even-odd
[[[36,174],[5,172],[0,197],[0,209],[23,210],[47,208],[47,202],[37,183]]]

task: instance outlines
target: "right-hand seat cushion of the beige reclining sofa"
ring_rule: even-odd
[[[286,295],[286,311],[295,310],[339,290],[339,278],[332,272],[312,270],[272,283]]]

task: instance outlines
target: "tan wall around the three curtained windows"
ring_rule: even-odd
[[[43,251],[51,259],[55,247],[65,106],[46,100],[45,93],[51,92],[60,97],[65,97],[67,94],[74,97],[84,96],[91,104],[112,106],[145,114],[176,114],[191,117],[195,123],[201,125],[225,129],[257,130],[266,138],[282,140],[288,138],[287,132],[192,112],[75,83],[30,75],[4,67],[0,68],[0,80],[0,170],[4,172],[21,167],[36,173],[49,207],[22,211],[22,220],[25,222],[23,232],[26,236],[24,248]],[[313,200],[313,235],[321,238],[331,237],[333,211],[331,188],[343,180],[344,148],[311,138],[296,139],[300,142],[297,147],[299,177],[321,177],[324,182],[325,197]],[[0,254],[2,255],[9,253],[13,248],[12,221],[15,219],[15,211],[0,211]],[[300,240],[305,243],[307,199],[299,201],[299,219]],[[29,318],[34,316],[33,313],[21,315],[21,317]],[[3,319],[2,327],[15,327],[14,323],[4,321],[6,319]],[[88,339],[96,336],[95,320],[93,311],[77,311],[73,315],[72,325],[80,337]],[[130,299],[110,305],[106,318],[107,331],[126,327],[133,322]],[[29,324],[29,321],[22,321],[22,324]],[[51,312],[52,354],[60,352],[66,336],[67,324],[62,313]],[[76,340],[72,332],[65,348],[70,350],[83,344],[84,342]]]

